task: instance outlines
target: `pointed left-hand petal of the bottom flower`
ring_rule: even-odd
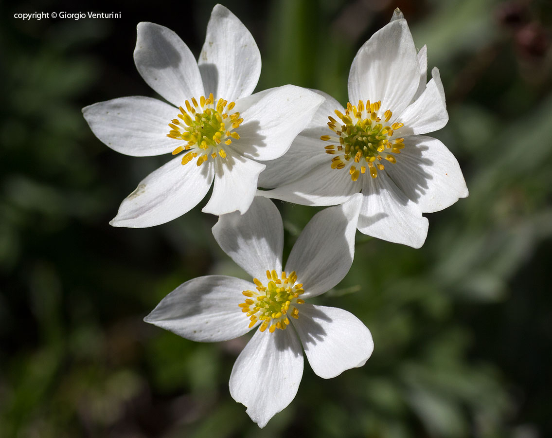
[[[251,321],[238,304],[245,302],[242,292],[255,287],[234,277],[197,277],[164,297],[144,321],[192,341],[234,339],[251,330]]]

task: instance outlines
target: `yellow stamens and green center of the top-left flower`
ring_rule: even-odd
[[[167,137],[184,140],[187,143],[178,146],[173,155],[182,151],[188,151],[182,157],[185,165],[197,158],[197,165],[201,166],[205,161],[215,159],[217,154],[226,158],[223,145],[230,145],[232,139],[239,139],[240,135],[233,131],[243,122],[240,113],[229,114],[235,103],[219,99],[214,103],[213,93],[208,98],[201,96],[198,101],[192,97],[192,104],[185,102],[186,109],[179,107],[180,114],[177,119],[169,123],[171,131]]]

